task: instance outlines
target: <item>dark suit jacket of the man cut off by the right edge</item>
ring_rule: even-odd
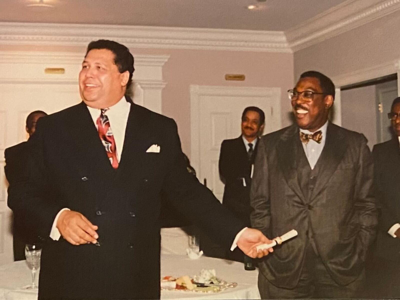
[[[372,154],[376,199],[381,211],[374,254],[388,260],[398,260],[400,240],[388,234],[390,227],[400,223],[400,148],[398,138],[375,145]]]

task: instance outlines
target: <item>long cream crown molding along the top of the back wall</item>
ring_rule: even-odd
[[[0,45],[87,46],[100,38],[132,48],[291,53],[281,31],[0,22]]]

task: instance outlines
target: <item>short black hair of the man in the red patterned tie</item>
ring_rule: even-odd
[[[112,53],[114,53],[114,64],[116,64],[116,66],[118,67],[118,71],[120,71],[120,73],[129,71],[129,80],[126,84],[126,91],[128,92],[130,90],[130,86],[132,85],[132,75],[135,71],[135,68],[133,66],[134,58],[133,55],[129,52],[129,49],[126,46],[115,41],[97,40],[92,41],[88,44],[85,57],[92,49],[108,49]]]

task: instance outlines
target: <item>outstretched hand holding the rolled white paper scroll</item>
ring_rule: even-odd
[[[247,228],[240,235],[237,245],[247,256],[252,258],[262,258],[263,256],[268,255],[270,252],[273,252],[274,249],[268,248],[264,250],[258,250],[257,252],[256,247],[261,244],[270,244],[271,242],[272,240],[266,238],[266,236],[264,236],[260,230]]]

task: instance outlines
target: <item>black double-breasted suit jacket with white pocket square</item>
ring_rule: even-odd
[[[99,235],[97,245],[45,245],[40,299],[158,299],[161,191],[226,247],[242,228],[187,172],[175,122],[146,108],[131,105],[117,170],[83,102],[40,118],[30,142],[34,173],[10,185],[10,208],[32,215],[47,236],[58,211],[70,208]],[[160,153],[146,152],[153,144]]]

